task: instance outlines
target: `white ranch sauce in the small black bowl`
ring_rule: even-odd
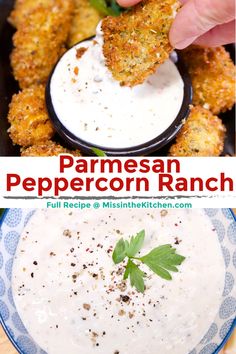
[[[104,64],[100,26],[93,40],[70,49],[58,63],[50,85],[61,123],[91,146],[133,147],[163,133],[183,102],[183,80],[169,59],[142,85],[121,87]],[[79,48],[87,48],[80,59]]]

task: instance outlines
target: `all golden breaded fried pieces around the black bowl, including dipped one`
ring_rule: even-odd
[[[173,48],[168,34],[178,0],[144,0],[118,17],[105,17],[106,65],[121,85],[141,84]],[[69,151],[53,141],[44,91],[59,57],[95,34],[102,15],[89,0],[16,0],[9,22],[16,28],[11,65],[21,91],[10,104],[9,134],[22,156]],[[235,67],[224,47],[190,46],[181,52],[193,84],[193,106],[170,156],[219,156],[226,129],[217,115],[235,102]]]

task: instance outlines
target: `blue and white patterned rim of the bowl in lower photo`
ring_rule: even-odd
[[[19,353],[46,354],[27,333],[11,292],[13,257],[20,234],[33,213],[34,209],[9,209],[0,222],[0,322]],[[230,209],[205,209],[205,213],[221,244],[225,287],[214,323],[189,354],[218,353],[236,325],[236,219]]]

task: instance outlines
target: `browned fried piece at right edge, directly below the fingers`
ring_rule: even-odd
[[[193,104],[214,114],[235,103],[235,66],[224,47],[190,46],[180,52],[193,84]]]

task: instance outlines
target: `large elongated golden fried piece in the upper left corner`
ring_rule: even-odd
[[[13,36],[11,64],[21,88],[43,84],[64,51],[73,0],[63,6],[40,5],[25,17]]]

